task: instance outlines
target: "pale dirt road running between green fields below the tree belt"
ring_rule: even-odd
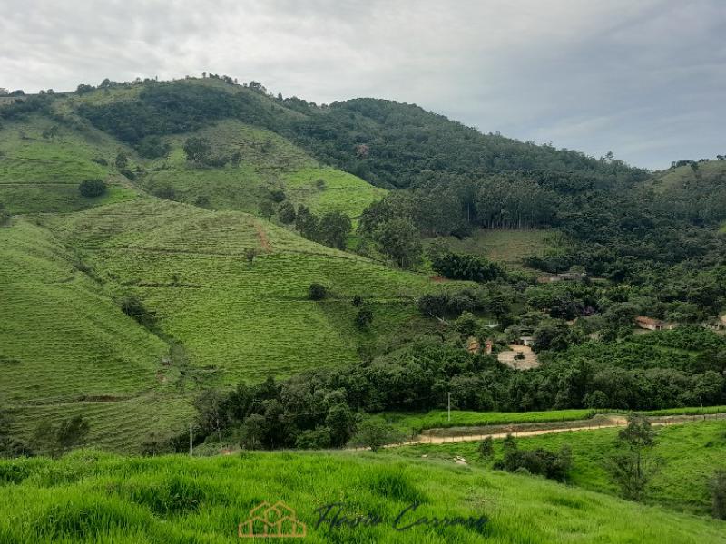
[[[704,420],[726,420],[726,413],[711,413],[701,415],[669,415],[651,416],[647,418],[653,426],[677,425],[682,423],[700,422]],[[466,432],[458,432],[463,427],[428,429],[417,436],[416,439],[387,444],[386,448],[410,446],[417,444],[449,444],[454,442],[476,442],[484,440],[487,436],[492,438],[505,438],[508,434],[517,438],[526,436],[539,436],[541,434],[554,434],[555,432],[594,431],[611,427],[624,427],[628,420],[620,415],[595,416],[589,420],[574,420],[557,423],[512,423],[509,425],[484,425],[466,428]]]

